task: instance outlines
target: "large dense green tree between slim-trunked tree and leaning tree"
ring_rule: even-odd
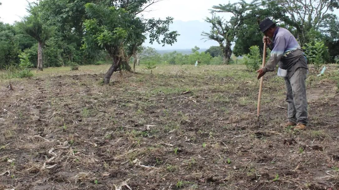
[[[48,59],[54,66],[66,65],[72,62],[91,64],[103,55],[101,49],[81,49],[83,23],[89,17],[86,14],[85,4],[97,0],[43,0],[36,7],[44,23],[54,26],[53,39],[46,42],[44,51],[48,51]],[[53,49],[55,51],[53,51]],[[44,53],[45,54],[45,53]],[[57,63],[56,61],[60,63]]]

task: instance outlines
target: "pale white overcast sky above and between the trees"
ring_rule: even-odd
[[[29,2],[33,2],[36,0],[28,0]],[[248,0],[250,1],[250,0]],[[20,21],[22,17],[27,15],[27,1],[26,0],[0,0],[2,5],[0,5],[0,21],[4,23],[10,23],[13,24],[15,21]],[[213,5],[218,4],[226,4],[228,3],[228,0],[163,0],[160,1],[154,5],[152,5],[148,10],[151,10],[150,12],[144,12],[144,16],[146,18],[161,18],[164,19],[168,16],[173,17],[175,21],[200,21],[204,22],[204,19],[206,17],[210,17],[210,10]],[[230,0],[231,3],[238,2],[238,0]],[[339,10],[336,9],[334,12],[337,16],[339,16]],[[229,18],[230,14],[224,14],[226,19]],[[207,23],[205,23],[207,24]],[[188,23],[187,23],[188,25]],[[196,25],[204,26],[203,23],[199,22]],[[192,28],[192,27],[191,27]],[[187,29],[187,27],[179,26],[178,28],[175,28],[175,30],[191,30],[190,28]],[[188,47],[194,47],[194,45],[199,45],[201,48],[208,48],[211,45],[218,45],[216,42],[211,44],[212,42],[204,42],[205,40],[201,40],[201,32],[202,31],[208,31],[209,26],[205,26],[205,28],[198,28],[195,30],[199,31],[192,31],[197,33],[196,36],[194,36],[195,41],[192,39],[189,42],[185,42],[187,39],[192,36],[188,34],[188,36],[183,35],[183,31],[179,32],[182,34],[180,36],[180,40],[183,44],[175,44],[174,46],[170,48],[178,48],[180,45],[180,48],[188,48]],[[201,30],[201,31],[200,31]],[[192,43],[192,44],[191,44]],[[186,45],[184,45],[186,44]],[[162,48],[157,45],[153,45],[153,47],[159,48],[159,49],[166,49]]]

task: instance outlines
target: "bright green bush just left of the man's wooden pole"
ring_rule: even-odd
[[[259,46],[251,46],[250,53],[244,56],[244,64],[246,65],[247,70],[258,70],[261,62]]]

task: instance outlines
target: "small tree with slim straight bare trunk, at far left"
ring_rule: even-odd
[[[38,4],[35,4],[37,6]],[[41,21],[40,15],[34,6],[29,4],[30,15],[20,23],[22,30],[38,41],[38,69],[43,70],[42,48],[46,40],[51,36],[51,26],[46,26]]]

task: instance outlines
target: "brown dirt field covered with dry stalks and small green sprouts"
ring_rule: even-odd
[[[310,69],[305,131],[282,128],[285,88],[243,66],[48,68],[0,81],[3,189],[339,189],[338,65]],[[63,70],[62,70],[63,69]]]

